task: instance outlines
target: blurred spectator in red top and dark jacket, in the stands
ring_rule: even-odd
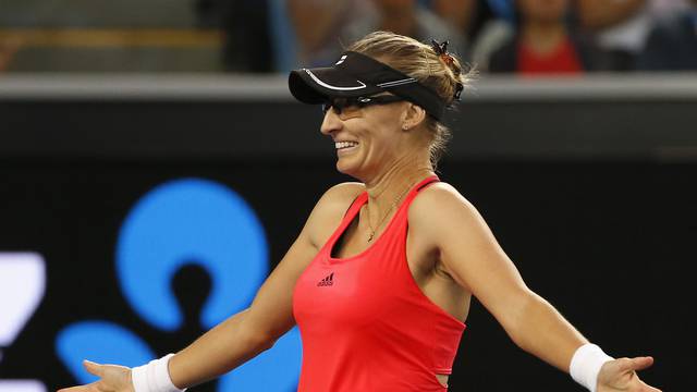
[[[517,0],[517,34],[491,58],[491,72],[578,74],[602,69],[602,56],[567,28],[568,0]]]

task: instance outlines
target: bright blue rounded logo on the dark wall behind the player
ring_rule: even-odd
[[[208,330],[252,303],[268,274],[268,245],[254,210],[235,192],[186,179],[164,183],[138,200],[119,233],[115,261],[131,307],[164,332],[184,321],[170,289],[174,273],[191,264],[204,268],[212,289],[199,322]],[[66,327],[56,346],[81,383],[96,379],[83,369],[83,358],[130,367],[156,358],[136,334],[102,320]],[[299,333],[293,328],[272,348],[223,376],[218,391],[294,391],[301,356]]]

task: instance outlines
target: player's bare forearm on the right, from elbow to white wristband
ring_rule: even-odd
[[[545,298],[531,293],[515,322],[506,328],[509,335],[522,350],[568,372],[576,348],[588,343],[564,317]]]

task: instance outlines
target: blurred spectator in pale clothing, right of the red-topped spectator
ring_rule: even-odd
[[[580,27],[610,53],[609,68],[631,71],[658,17],[686,8],[685,0],[576,0]]]

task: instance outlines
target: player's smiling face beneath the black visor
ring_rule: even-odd
[[[403,130],[411,105],[353,107],[341,114],[329,109],[320,132],[334,143],[337,170],[365,182],[418,149],[413,132]]]

